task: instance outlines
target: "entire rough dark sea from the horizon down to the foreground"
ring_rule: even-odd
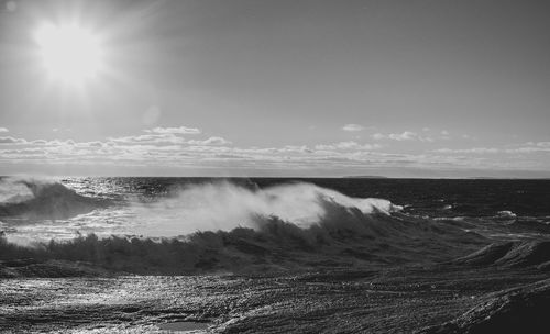
[[[535,333],[549,186],[6,177],[0,332]]]

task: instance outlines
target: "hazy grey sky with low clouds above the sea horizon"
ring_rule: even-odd
[[[549,16],[530,0],[0,1],[0,175],[547,178]],[[61,76],[90,70],[80,35],[45,66],[44,26],[92,35],[100,66]]]

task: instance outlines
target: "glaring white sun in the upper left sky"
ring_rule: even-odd
[[[94,78],[102,66],[100,40],[78,25],[45,24],[35,33],[42,62],[54,78],[81,84]]]

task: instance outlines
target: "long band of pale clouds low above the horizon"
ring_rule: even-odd
[[[439,132],[438,132],[439,134]],[[384,140],[421,141],[406,131],[376,134]],[[528,142],[502,147],[440,148],[419,153],[392,152],[381,143],[344,141],[317,145],[238,147],[220,136],[185,140],[174,133],[108,137],[102,141],[25,140],[0,137],[0,162],[10,164],[72,164],[143,167],[249,168],[287,170],[345,170],[345,168],[539,168],[548,160],[539,155],[550,152],[550,142]],[[380,149],[385,147],[386,151]],[[6,148],[6,149],[2,149]],[[509,155],[506,155],[509,154]],[[514,155],[515,154],[515,155]],[[517,155],[521,155],[518,158]],[[550,156],[549,156],[550,157]],[[24,166],[24,165],[21,165]]]

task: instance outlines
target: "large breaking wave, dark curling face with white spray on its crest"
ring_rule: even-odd
[[[88,201],[64,187],[45,189],[70,202]],[[404,214],[389,201],[309,183],[258,189],[209,182],[130,207],[151,220],[145,227],[134,225],[136,232],[148,229],[144,237],[89,234],[20,246],[2,236],[0,259],[85,261],[138,274],[264,272],[442,260],[486,243],[446,221]]]

